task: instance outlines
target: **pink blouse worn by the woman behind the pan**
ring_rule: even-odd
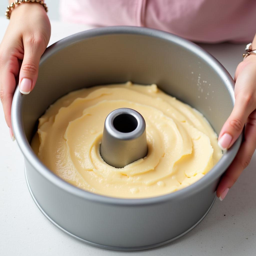
[[[251,42],[256,0],[61,0],[62,20],[143,26],[196,42]]]

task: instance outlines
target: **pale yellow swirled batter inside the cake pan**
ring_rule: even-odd
[[[118,108],[142,114],[148,141],[147,156],[124,168],[106,164],[99,150],[105,118]],[[67,182],[121,198],[154,197],[182,189],[203,177],[222,156],[217,135],[202,114],[155,84],[131,82],[62,97],[39,119],[32,147]]]

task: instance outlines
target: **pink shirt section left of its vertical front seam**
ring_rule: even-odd
[[[143,26],[146,0],[61,0],[63,20],[92,26]]]

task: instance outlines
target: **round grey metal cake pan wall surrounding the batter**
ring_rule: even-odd
[[[84,31],[47,48],[35,89],[17,89],[12,125],[25,158],[28,187],[37,206],[61,230],[90,244],[116,250],[162,245],[188,232],[207,214],[220,176],[234,159],[241,136],[196,183],[144,199],[101,196],[74,187],[39,161],[30,147],[37,120],[58,98],[98,84],[156,83],[195,107],[219,133],[234,104],[234,81],[206,51],[178,36],[140,27]]]

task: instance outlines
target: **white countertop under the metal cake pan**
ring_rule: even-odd
[[[8,25],[0,18],[0,40]],[[88,29],[52,22],[50,44]],[[203,45],[234,75],[243,45]],[[77,241],[52,225],[32,200],[24,177],[23,156],[12,142],[0,108],[0,255],[126,255]],[[222,202],[216,200],[205,219],[182,238],[156,249],[132,255],[255,255],[256,154]]]

